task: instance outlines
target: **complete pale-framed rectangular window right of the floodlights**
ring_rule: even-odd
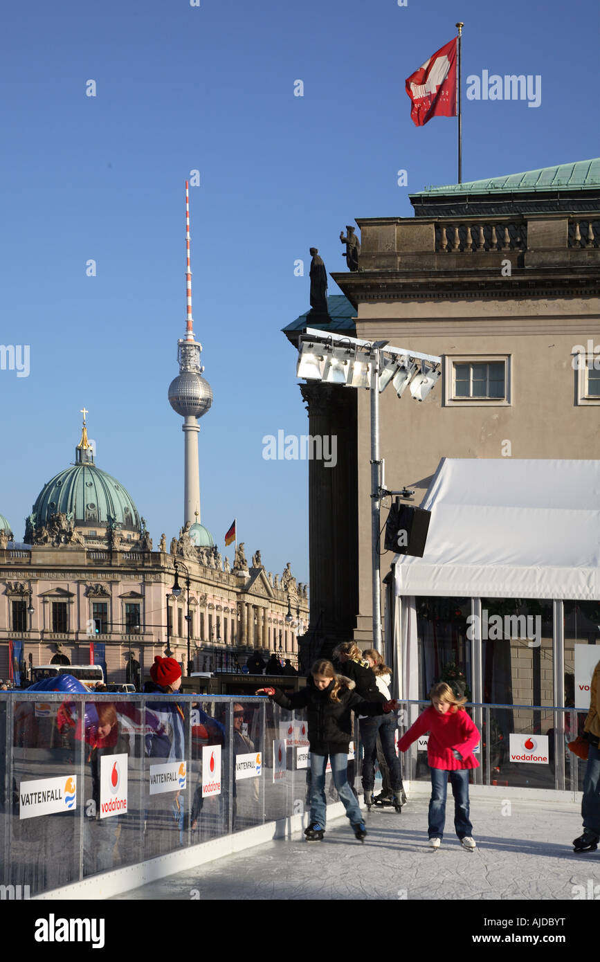
[[[511,404],[511,357],[469,355],[444,358],[444,405]]]

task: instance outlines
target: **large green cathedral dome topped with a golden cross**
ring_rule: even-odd
[[[27,519],[25,540],[30,541],[35,529],[60,514],[70,519],[74,528],[104,529],[111,523],[141,534],[137,507],[129,492],[112,474],[94,464],[85,424],[75,458],[74,465],[55,474],[39,492]]]

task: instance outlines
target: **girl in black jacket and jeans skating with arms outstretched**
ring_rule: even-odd
[[[351,689],[353,682],[337,675],[330,661],[317,661],[311,669],[306,688],[286,696],[279,689],[261,688],[257,695],[268,695],[276,704],[288,710],[306,708],[311,747],[311,823],[305,829],[309,842],[321,841],[325,831],[327,802],[325,798],[325,767],[329,756],[334,784],[346,810],[346,816],[358,839],[366,835],[359,802],[348,784],[348,747],[352,736],[351,713],[381,715],[394,707],[393,702],[365,701]]]

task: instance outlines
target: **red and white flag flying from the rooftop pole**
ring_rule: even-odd
[[[406,90],[412,100],[412,121],[417,127],[432,117],[456,116],[456,37],[407,78]]]

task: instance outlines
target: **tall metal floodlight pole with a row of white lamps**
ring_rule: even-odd
[[[307,327],[298,342],[297,377],[366,388],[371,400],[371,569],[373,595],[373,647],[382,651],[381,573],[379,531],[381,498],[386,491],[384,462],[379,456],[379,395],[391,382],[398,397],[410,387],[412,397],[423,401],[441,376],[441,358],[408,348],[391,347],[387,341],[325,334]],[[386,492],[386,494],[401,494]]]

